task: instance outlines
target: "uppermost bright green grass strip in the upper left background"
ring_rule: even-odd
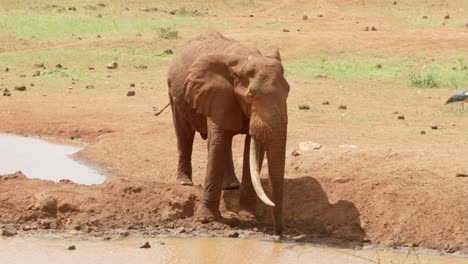
[[[85,37],[98,33],[122,33],[129,31],[159,32],[161,28],[199,27],[202,29],[223,26],[223,23],[213,23],[212,18],[193,16],[172,16],[170,18],[117,18],[92,17],[81,14],[41,14],[19,12],[1,14],[0,35],[17,38],[36,38],[38,40],[67,40]],[[155,34],[155,35],[156,35]]]

